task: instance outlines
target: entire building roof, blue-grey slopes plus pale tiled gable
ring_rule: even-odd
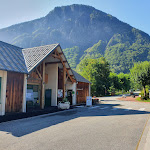
[[[20,47],[0,41],[0,70],[14,71],[28,74],[39,63],[41,63],[51,52],[53,52],[55,48],[57,48],[57,46],[60,45],[51,44],[22,49]],[[65,55],[64,59],[66,60]],[[91,83],[74,70],[70,71],[73,73],[76,81]]]

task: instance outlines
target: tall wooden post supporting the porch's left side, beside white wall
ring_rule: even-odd
[[[41,109],[44,109],[45,105],[45,60],[43,61],[43,72],[42,72],[42,94],[41,94]]]

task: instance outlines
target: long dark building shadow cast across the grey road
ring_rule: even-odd
[[[90,116],[119,116],[119,115],[141,115],[150,114],[148,111],[127,110],[124,108],[117,109],[119,104],[100,104],[94,107],[83,107],[73,109],[67,112],[61,112],[56,115],[39,116],[29,119],[15,120],[0,124],[0,131],[12,134],[15,137],[22,137],[33,132],[49,128],[51,126],[70,121],[79,117]]]

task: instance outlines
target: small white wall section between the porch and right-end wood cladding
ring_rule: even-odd
[[[66,90],[72,90],[72,91],[74,91],[74,94],[72,95],[72,104],[73,105],[76,105],[76,86],[77,86],[76,83],[72,84],[72,82],[68,82],[67,81]]]

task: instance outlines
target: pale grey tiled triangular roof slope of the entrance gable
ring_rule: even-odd
[[[28,72],[32,71],[43,59],[45,59],[59,44],[51,44],[22,50]]]

